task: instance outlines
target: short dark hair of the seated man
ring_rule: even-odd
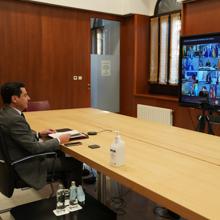
[[[25,87],[22,82],[7,82],[1,86],[1,96],[4,104],[11,104],[13,95],[20,97],[21,88]]]

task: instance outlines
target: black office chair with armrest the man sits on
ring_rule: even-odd
[[[10,198],[13,195],[15,188],[30,187],[17,174],[15,170],[17,164],[21,164],[24,161],[31,160],[36,157],[45,157],[45,156],[52,156],[54,157],[54,161],[55,161],[57,157],[57,153],[48,152],[48,153],[31,155],[12,162],[10,160],[7,146],[5,144],[4,135],[5,134],[3,132],[3,128],[0,125],[0,176],[2,177],[0,178],[0,192],[6,197]],[[52,171],[51,175],[49,175],[48,177],[48,183],[50,183],[51,191],[52,191],[51,196],[54,193],[54,188],[52,185],[54,181],[55,181],[54,171]]]

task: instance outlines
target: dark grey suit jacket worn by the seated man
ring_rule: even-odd
[[[36,133],[33,133],[25,118],[10,106],[0,109],[0,125],[3,128],[4,140],[11,161],[59,149],[57,139],[39,142]],[[15,170],[24,182],[36,189],[42,188],[47,183],[47,167],[44,157],[17,164]]]

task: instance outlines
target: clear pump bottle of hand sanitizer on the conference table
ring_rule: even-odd
[[[110,164],[112,166],[122,166],[125,163],[125,146],[119,132],[116,132],[114,142],[110,147]]]

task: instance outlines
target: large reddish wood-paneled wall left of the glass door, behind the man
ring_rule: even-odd
[[[23,81],[53,109],[90,106],[90,18],[119,16],[0,1],[0,84]],[[82,76],[82,80],[73,80]]]

